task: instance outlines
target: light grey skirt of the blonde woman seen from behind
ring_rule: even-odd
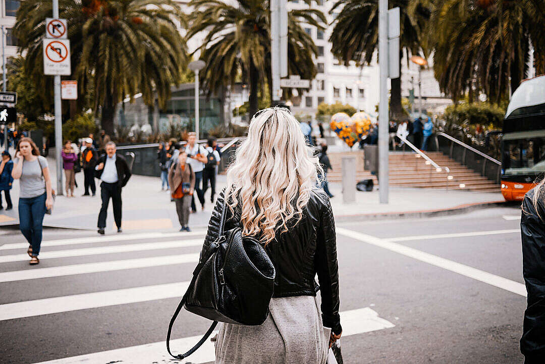
[[[313,296],[273,298],[262,325],[220,324],[216,364],[325,364],[331,329]]]

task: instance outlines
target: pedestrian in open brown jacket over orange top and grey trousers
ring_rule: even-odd
[[[168,181],[172,186],[172,198],[176,203],[176,213],[180,222],[180,231],[191,231],[189,228],[189,213],[191,209],[191,196],[195,191],[195,172],[187,163],[187,153],[180,151],[178,160],[168,170]]]

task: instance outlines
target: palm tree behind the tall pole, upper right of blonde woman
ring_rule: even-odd
[[[331,52],[344,64],[352,60],[356,65],[370,64],[378,49],[378,2],[379,0],[338,0],[330,10],[334,14],[340,9],[335,20],[329,41]],[[391,0],[390,7],[399,7],[401,17],[401,37],[399,62],[403,51],[418,54],[423,51],[429,56],[426,47],[425,27],[431,15],[428,1]],[[380,57],[380,54],[379,54]],[[391,112],[395,119],[401,118],[401,77],[391,80]]]

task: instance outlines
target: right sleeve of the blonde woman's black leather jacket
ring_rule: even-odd
[[[320,191],[321,192],[321,191]],[[314,256],[322,296],[322,320],[337,335],[342,332],[339,316],[339,280],[337,265],[337,236],[335,220],[329,197],[323,193],[324,205],[320,213],[320,226]]]

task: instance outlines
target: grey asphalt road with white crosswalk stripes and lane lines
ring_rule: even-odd
[[[522,363],[519,215],[517,208],[497,208],[338,223],[344,363]],[[31,268],[17,255],[26,248],[5,245],[23,242],[22,236],[2,232],[0,362],[171,362],[161,342],[184,293],[176,283],[189,280],[203,235],[169,233],[100,239],[47,230],[50,246]],[[119,236],[130,240],[112,240]],[[173,256],[186,263],[160,265]],[[196,342],[183,338],[201,335],[208,325],[182,312],[175,350]],[[146,347],[150,343],[159,344]],[[197,359],[184,362],[204,362]]]

